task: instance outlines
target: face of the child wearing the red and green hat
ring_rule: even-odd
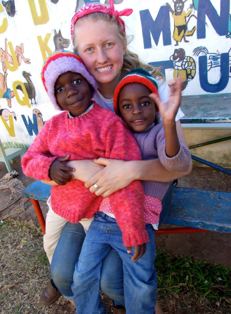
[[[150,95],[150,90],[141,83],[125,85],[119,95],[119,109],[127,126],[142,132],[155,120],[156,106]]]

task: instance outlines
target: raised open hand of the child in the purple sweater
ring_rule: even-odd
[[[160,96],[155,93],[149,95],[150,98],[155,100],[163,123],[175,121],[178,109],[181,104],[181,79],[174,78],[174,80],[169,83],[169,88],[170,94],[167,102],[161,101]]]

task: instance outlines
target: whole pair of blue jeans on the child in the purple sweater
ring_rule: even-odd
[[[75,266],[72,290],[76,311],[81,314],[106,314],[100,298],[102,260],[113,247],[123,261],[123,285],[127,314],[155,313],[157,276],[155,239],[151,224],[146,224],[149,241],[146,253],[136,262],[123,244],[122,232],[114,218],[99,212],[94,216],[79,261]],[[113,272],[113,264],[110,265]]]

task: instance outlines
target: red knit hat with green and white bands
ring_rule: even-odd
[[[142,68],[137,68],[137,69],[129,71],[121,79],[121,81],[118,83],[114,91],[113,105],[114,105],[114,111],[118,115],[120,115],[119,103],[118,103],[120,91],[125,85],[129,83],[141,83],[145,85],[151,91],[151,93],[158,94],[157,82],[155,78],[153,78],[153,76],[148,71]]]

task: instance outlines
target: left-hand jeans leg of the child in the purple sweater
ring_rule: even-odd
[[[100,273],[102,260],[110,250],[110,229],[110,223],[99,214],[95,215],[74,270],[71,288],[77,313],[106,314],[100,297]]]

